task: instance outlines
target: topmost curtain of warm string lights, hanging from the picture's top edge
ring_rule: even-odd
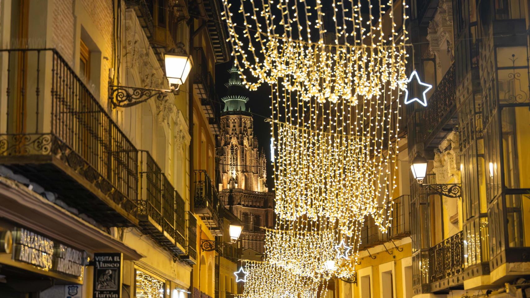
[[[397,8],[360,0],[223,4],[235,64],[250,70],[253,78],[242,79],[251,90],[281,82],[303,100],[356,101],[381,95],[386,84],[395,89],[405,77],[404,0]]]

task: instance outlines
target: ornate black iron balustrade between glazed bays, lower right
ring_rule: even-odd
[[[429,249],[430,282],[463,273],[464,245],[462,231]]]

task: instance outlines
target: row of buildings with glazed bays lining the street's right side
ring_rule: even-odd
[[[410,221],[396,237],[365,223],[357,279],[336,281],[334,294],[530,294],[527,7],[518,0],[411,1],[409,73],[416,69],[432,88],[426,107],[396,107],[396,177]],[[421,88],[409,91],[421,96]],[[410,175],[417,157],[427,160],[422,180]],[[392,217],[392,229],[400,227]]]

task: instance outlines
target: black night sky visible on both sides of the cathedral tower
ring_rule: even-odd
[[[231,51],[231,49],[229,50]],[[229,74],[227,70],[232,67],[233,61],[225,62],[222,64],[217,64],[215,66],[215,89],[216,93],[221,97],[225,96],[228,93],[225,83],[228,82]],[[269,191],[272,191],[274,185],[274,178],[272,173],[272,165],[270,163],[270,123],[264,122],[266,118],[270,118],[270,87],[268,85],[262,85],[258,88],[258,91],[250,92],[246,91],[250,101],[246,103],[246,107],[250,107],[250,112],[254,116],[254,136],[258,138],[259,149],[264,150],[265,155],[267,156],[267,185]],[[217,108],[222,109],[223,105],[220,104]]]

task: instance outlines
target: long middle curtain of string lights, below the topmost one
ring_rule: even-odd
[[[346,236],[372,216],[381,231],[390,225],[399,144],[400,89],[352,105],[304,101],[272,87],[275,211],[337,223]]]

